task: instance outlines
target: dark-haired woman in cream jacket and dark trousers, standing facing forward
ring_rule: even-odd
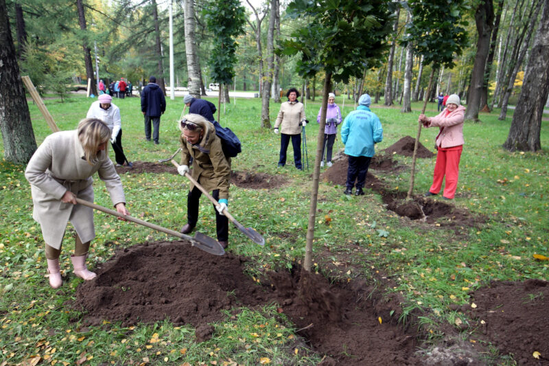
[[[280,126],[280,157],[279,167],[286,165],[286,151],[292,139],[294,148],[294,164],[296,169],[303,170],[301,166],[301,126],[305,127],[305,108],[303,103],[298,102],[299,91],[290,88],[288,93],[288,102],[280,105],[277,122],[274,122],[274,133],[279,133]]]

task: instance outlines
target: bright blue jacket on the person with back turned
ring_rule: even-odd
[[[374,144],[383,140],[383,128],[379,118],[370,108],[360,105],[345,117],[341,128],[341,141],[345,154],[351,157],[373,157]]]

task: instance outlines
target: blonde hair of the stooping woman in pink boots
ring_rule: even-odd
[[[99,160],[97,157],[99,146],[110,139],[110,128],[101,119],[84,118],[78,124],[78,139],[84,149],[84,158],[93,165]]]

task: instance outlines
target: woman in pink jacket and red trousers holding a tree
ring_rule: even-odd
[[[434,196],[441,192],[442,181],[446,176],[443,198],[454,198],[458,187],[459,160],[463,150],[463,120],[465,107],[460,105],[459,96],[452,94],[446,100],[446,108],[436,117],[419,115],[419,122],[425,127],[439,127],[436,135],[436,163],[434,165],[433,184],[425,196]]]

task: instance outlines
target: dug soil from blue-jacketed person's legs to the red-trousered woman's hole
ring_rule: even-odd
[[[331,165],[322,174],[322,179],[341,185],[342,188],[340,189],[342,190],[347,181],[349,160],[347,156],[342,155],[338,159],[334,159],[333,162],[334,165]],[[410,202],[403,201],[406,198],[406,192],[390,190],[383,181],[377,179],[370,172],[366,175],[364,188],[369,188],[380,194],[383,203],[387,205],[387,209],[411,220],[425,220],[428,223],[437,222],[441,227],[451,227],[456,231],[459,231],[462,227],[477,227],[486,220],[482,217],[471,216],[468,211],[458,209],[454,205],[423,196],[415,196]]]

